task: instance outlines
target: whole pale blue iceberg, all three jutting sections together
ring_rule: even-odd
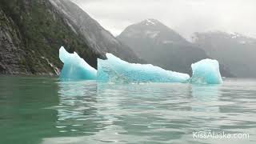
[[[220,84],[222,77],[218,61],[204,59],[192,64],[193,76],[164,70],[150,64],[135,64],[123,61],[113,54],[107,59],[98,59],[98,71],[87,64],[74,52],[68,53],[64,47],[59,50],[59,58],[64,63],[61,79],[98,80],[98,82],[138,83],[138,82],[191,82],[197,84]]]

